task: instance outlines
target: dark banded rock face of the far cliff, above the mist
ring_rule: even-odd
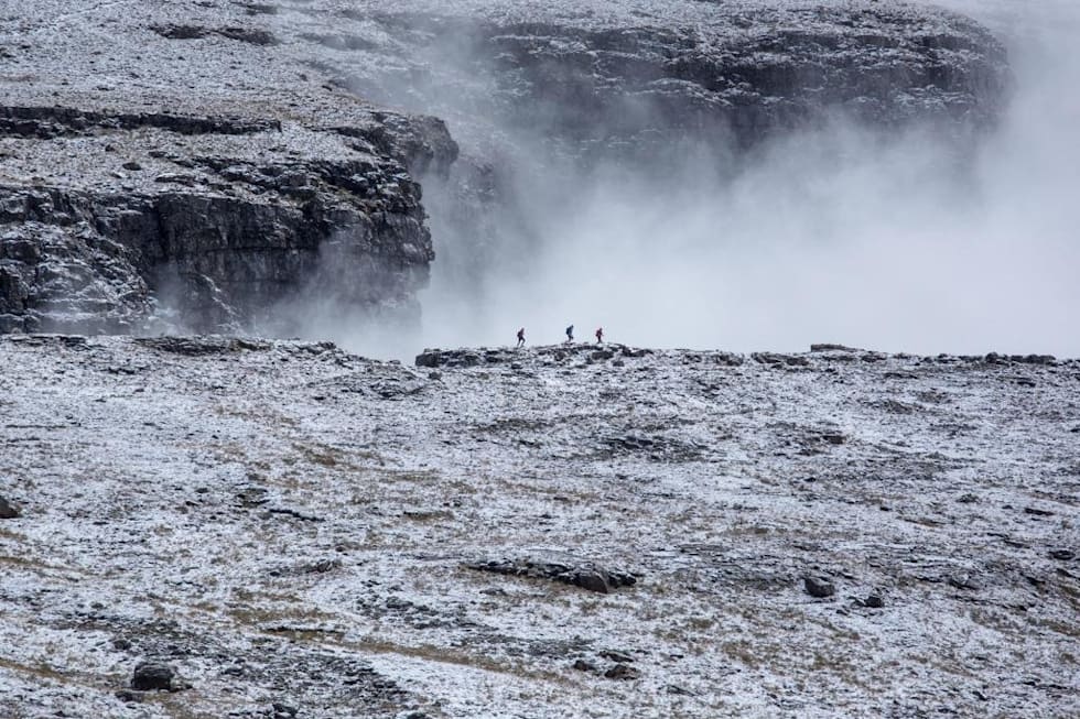
[[[1004,51],[986,30],[906,3],[353,6],[353,25],[309,36],[364,57],[408,50],[396,58],[421,77],[418,102],[453,105],[429,91],[450,86],[501,127],[620,156],[688,137],[746,146],[836,110],[875,126],[984,124],[1006,78]],[[379,64],[365,67],[342,81],[399,101]]]

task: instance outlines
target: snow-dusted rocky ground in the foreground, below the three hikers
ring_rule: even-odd
[[[0,338],[3,715],[1080,715],[1080,362],[611,349]]]

